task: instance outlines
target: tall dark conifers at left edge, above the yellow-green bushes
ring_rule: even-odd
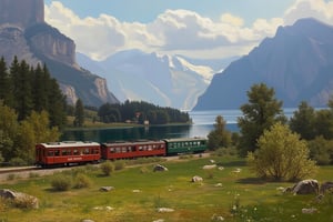
[[[18,121],[26,120],[32,111],[47,111],[50,127],[62,129],[65,125],[65,97],[56,79],[51,78],[44,64],[29,65],[14,57],[7,68],[4,58],[0,59],[0,100],[13,109]]]

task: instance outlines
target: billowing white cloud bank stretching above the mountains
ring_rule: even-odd
[[[333,2],[297,0],[284,18],[259,18],[250,27],[231,13],[214,21],[189,10],[167,10],[151,23],[139,23],[120,22],[109,14],[82,19],[57,1],[46,6],[46,21],[72,38],[78,51],[98,60],[134,48],[196,58],[241,56],[273,37],[279,26],[310,16],[333,23]]]

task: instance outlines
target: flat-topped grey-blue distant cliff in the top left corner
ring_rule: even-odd
[[[1,0],[0,24],[28,28],[44,22],[43,0]]]

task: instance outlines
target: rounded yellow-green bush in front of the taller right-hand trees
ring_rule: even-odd
[[[261,178],[295,181],[316,172],[315,162],[309,159],[306,141],[281,122],[264,131],[258,147],[249,153],[248,163]]]

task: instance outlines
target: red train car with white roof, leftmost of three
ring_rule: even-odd
[[[93,163],[100,159],[101,148],[97,142],[68,141],[36,145],[36,164],[41,167]]]

